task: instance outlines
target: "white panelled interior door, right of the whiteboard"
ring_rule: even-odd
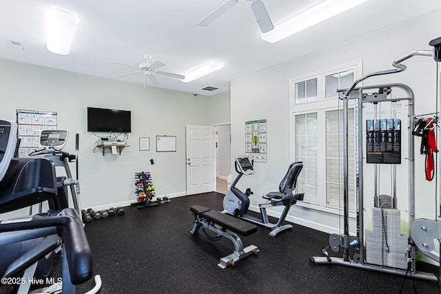
[[[213,141],[212,126],[186,126],[187,195],[216,189]]]

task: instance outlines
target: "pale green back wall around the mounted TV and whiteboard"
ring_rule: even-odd
[[[136,200],[134,173],[151,171],[157,196],[185,195],[185,125],[209,125],[209,97],[145,87],[0,59],[0,118],[15,120],[16,109],[58,114],[58,128],[70,132],[65,151],[74,152],[80,135],[79,179],[82,207],[109,207]],[[87,107],[132,111],[130,147],[121,156],[94,153],[87,132]],[[229,120],[218,115],[219,120]],[[155,136],[176,136],[176,152],[156,153]],[[139,137],[152,151],[139,151]],[[150,165],[154,158],[154,165]],[[74,164],[71,165],[74,174]],[[163,188],[159,188],[159,182]]]

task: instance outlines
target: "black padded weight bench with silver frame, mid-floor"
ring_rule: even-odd
[[[238,236],[256,233],[256,225],[200,205],[191,206],[190,211],[194,215],[194,226],[190,233],[196,235],[201,227],[205,227],[216,233],[216,236],[212,237],[203,229],[203,232],[210,240],[218,241],[220,238],[225,237],[233,242],[234,252],[225,256],[225,258],[220,258],[218,266],[222,269],[229,265],[234,266],[238,260],[259,252],[257,246],[254,245],[243,248],[242,240]]]

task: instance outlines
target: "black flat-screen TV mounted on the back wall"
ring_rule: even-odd
[[[88,107],[88,132],[132,132],[128,110]]]

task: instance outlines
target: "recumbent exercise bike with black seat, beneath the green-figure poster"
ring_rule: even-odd
[[[287,174],[283,177],[279,185],[279,191],[270,192],[262,196],[268,201],[259,204],[260,215],[262,218],[255,218],[254,216],[249,216],[249,196],[253,194],[251,189],[247,188],[245,193],[236,188],[237,182],[242,178],[242,176],[249,176],[255,173],[252,162],[249,161],[247,156],[237,156],[234,161],[234,168],[238,175],[232,182],[232,186],[229,188],[227,195],[223,198],[223,213],[231,214],[237,218],[247,220],[254,224],[260,224],[263,227],[272,229],[269,235],[275,237],[281,231],[286,229],[291,229],[291,224],[282,225],[288,214],[291,205],[296,204],[297,200],[303,200],[305,193],[294,194],[296,189],[296,182],[300,171],[303,168],[302,162],[293,162],[289,165]],[[267,207],[278,207],[284,206],[282,214],[278,219],[276,224],[269,222],[267,216]]]

